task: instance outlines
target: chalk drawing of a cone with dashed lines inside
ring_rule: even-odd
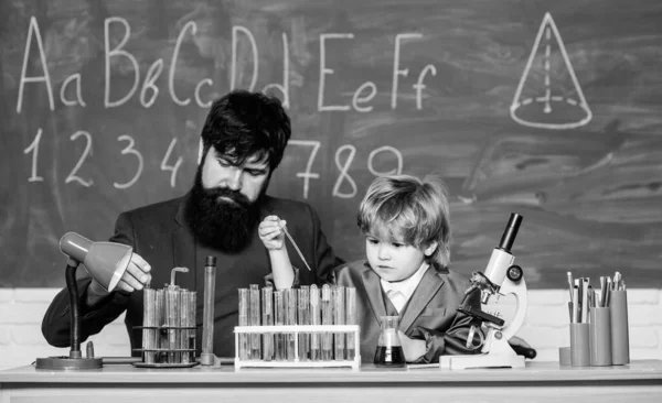
[[[520,124],[556,130],[578,128],[592,118],[549,13],[541,23],[510,115]]]

